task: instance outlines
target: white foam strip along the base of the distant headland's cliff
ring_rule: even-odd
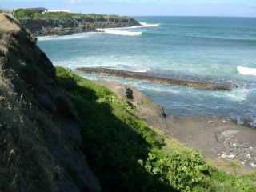
[[[54,41],[54,40],[69,40],[74,38],[89,38],[94,32],[70,34],[70,35],[53,35],[53,36],[42,36],[38,37],[38,41]]]

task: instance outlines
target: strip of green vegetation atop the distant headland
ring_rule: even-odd
[[[22,19],[66,19],[66,20],[82,20],[85,22],[126,22],[131,18],[120,17],[117,15],[102,14],[75,14],[66,12],[46,12],[40,13],[36,10],[18,9],[14,11],[14,16],[18,20]]]

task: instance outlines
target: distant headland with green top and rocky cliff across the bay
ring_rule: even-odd
[[[139,26],[134,18],[100,14],[73,13],[27,13],[16,10],[15,17],[22,26],[29,29],[35,36],[66,35],[96,31],[98,28],[114,28]]]

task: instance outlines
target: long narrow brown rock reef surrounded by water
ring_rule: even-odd
[[[81,67],[77,69],[86,74],[100,74],[106,76],[114,76],[119,78],[130,78],[138,80],[146,80],[149,82],[163,83],[166,85],[178,85],[178,86],[189,86],[196,89],[202,90],[231,90],[232,86],[229,84],[220,84],[212,82],[196,82],[186,79],[178,78],[162,78],[157,77],[149,73],[142,72],[132,72],[127,70],[114,70],[106,68],[90,68],[90,67]]]

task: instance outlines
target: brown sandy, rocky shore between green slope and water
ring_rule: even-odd
[[[129,101],[136,107],[140,118],[186,146],[199,150],[214,166],[231,174],[256,170],[256,130],[223,118],[166,116],[161,106],[134,87],[117,82],[98,83],[112,90],[120,99],[126,99],[127,89],[132,90],[133,99]]]

